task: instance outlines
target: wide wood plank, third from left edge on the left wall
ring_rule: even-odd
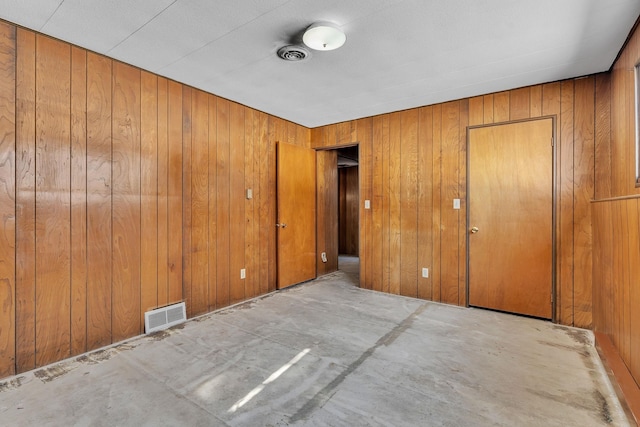
[[[36,36],[36,366],[71,355],[71,48]]]

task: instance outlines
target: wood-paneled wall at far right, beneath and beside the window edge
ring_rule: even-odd
[[[611,72],[611,103],[603,121],[610,144],[596,149],[593,203],[594,329],[607,334],[640,385],[640,188],[636,187],[634,66],[640,30],[630,35]]]

